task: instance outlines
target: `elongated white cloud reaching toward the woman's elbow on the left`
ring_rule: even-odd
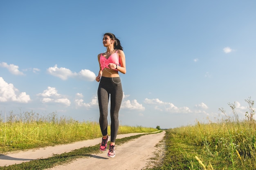
[[[54,67],[49,67],[47,69],[47,72],[50,75],[59,77],[63,80],[67,80],[69,77],[71,77],[71,78],[83,79],[86,81],[94,81],[96,77],[96,75],[90,70],[85,69],[85,70],[81,70],[79,73],[76,73],[76,72],[72,72],[68,68],[64,68],[64,67],[58,68],[57,64],[55,64]]]

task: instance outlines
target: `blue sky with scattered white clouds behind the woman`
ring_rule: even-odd
[[[126,55],[122,125],[174,128],[256,99],[254,0],[1,0],[0,112],[98,121],[103,34]]]

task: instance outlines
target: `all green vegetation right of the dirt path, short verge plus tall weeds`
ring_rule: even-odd
[[[184,126],[166,130],[166,152],[161,164],[148,170],[255,170],[256,121],[254,101],[249,97],[246,119],[240,120],[235,104],[234,114],[218,123]]]

